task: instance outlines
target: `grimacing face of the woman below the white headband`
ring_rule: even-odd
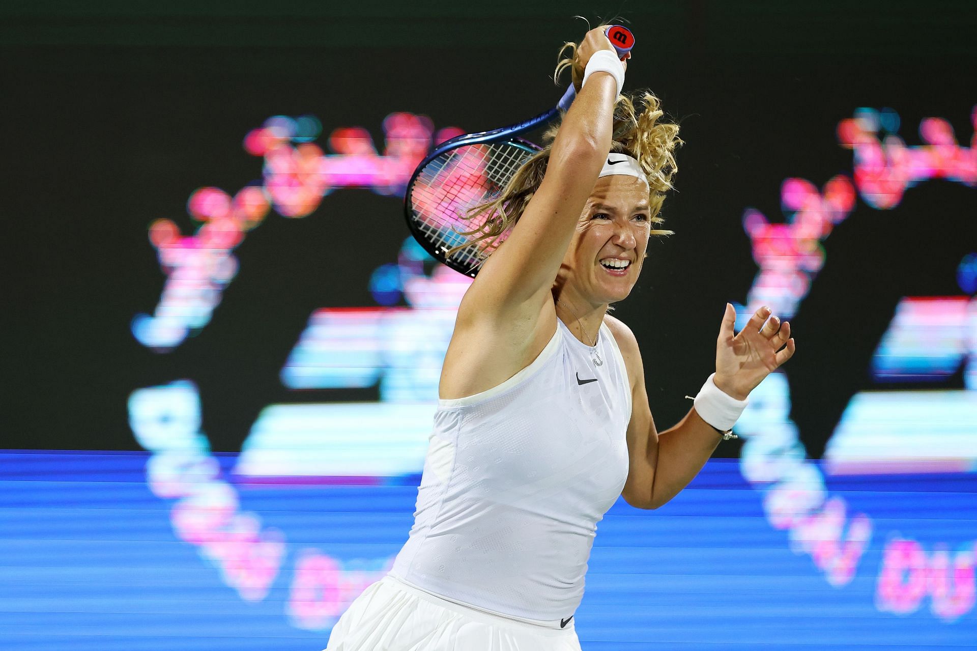
[[[633,176],[597,179],[564,256],[558,282],[595,307],[625,298],[638,281],[651,233],[648,185]]]

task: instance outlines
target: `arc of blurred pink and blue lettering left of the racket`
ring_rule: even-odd
[[[449,127],[435,137],[429,118],[391,113],[383,123],[386,147],[382,154],[362,127],[335,129],[327,138],[335,153],[327,154],[306,142],[308,137],[296,135],[297,124],[277,115],[248,132],[243,147],[264,157],[263,184],[245,186],[234,197],[218,188],[194,191],[187,211],[202,224],[192,235],[182,236],[168,219],[150,225],[149,241],[167,278],[153,314],[133,319],[133,335],[142,344],[160,352],[172,350],[191,331],[210,322],[237,271],[234,249],[271,208],[284,217],[306,217],[335,188],[402,194],[432,142],[459,131]]]

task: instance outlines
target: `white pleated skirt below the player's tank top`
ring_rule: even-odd
[[[350,604],[325,651],[581,651],[563,629],[520,622],[447,601],[384,577]]]

